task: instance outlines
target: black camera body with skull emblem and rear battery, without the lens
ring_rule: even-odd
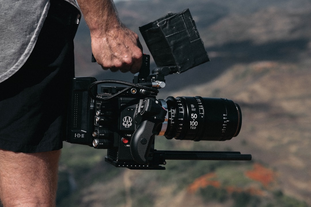
[[[75,78],[73,84],[81,86],[93,80],[92,77]],[[99,101],[90,98],[88,88],[81,90],[80,86],[73,90],[69,114],[73,119],[68,122],[66,141],[108,149],[106,161],[117,167],[144,168],[152,162],[154,136],[167,113],[159,101],[152,96],[135,97],[126,93],[109,101]],[[123,89],[102,87],[104,92],[96,96],[105,98]],[[74,118],[77,116],[78,119]]]

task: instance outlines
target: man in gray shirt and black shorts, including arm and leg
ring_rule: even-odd
[[[138,72],[142,47],[112,0],[0,0],[0,8],[0,199],[52,207],[81,14],[104,70]]]

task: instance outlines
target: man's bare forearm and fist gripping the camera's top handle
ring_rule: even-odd
[[[103,69],[137,73],[142,64],[138,35],[118,19],[112,0],[77,0],[91,32],[93,55]]]

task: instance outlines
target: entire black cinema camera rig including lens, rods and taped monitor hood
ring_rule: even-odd
[[[129,169],[165,169],[166,160],[251,160],[251,155],[240,152],[154,149],[156,135],[177,140],[229,140],[239,134],[242,114],[238,104],[225,98],[156,98],[165,87],[166,75],[209,61],[188,9],[139,29],[156,68],[150,73],[150,56],[144,55],[133,83],[74,78],[66,141],[108,149],[105,161]]]

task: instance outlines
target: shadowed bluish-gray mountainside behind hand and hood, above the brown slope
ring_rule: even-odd
[[[167,76],[169,90],[178,90],[209,81],[241,61],[297,61],[299,52],[308,47],[310,38],[309,4],[307,0],[241,0],[234,3],[229,0],[177,0],[118,2],[116,7],[123,23],[140,36],[147,54],[150,53],[138,27],[168,12],[190,9],[211,61],[184,74]],[[77,75],[132,81],[132,74],[102,71],[100,66],[90,62],[91,40],[88,34],[82,22],[75,39]],[[151,65],[153,67],[154,64]]]

